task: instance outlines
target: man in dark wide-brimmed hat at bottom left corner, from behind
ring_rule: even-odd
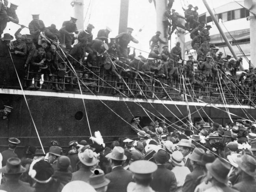
[[[0,185],[2,191],[34,192],[34,188],[29,183],[20,181],[20,175],[26,172],[26,168],[21,165],[17,157],[11,157],[7,160],[6,166],[0,169],[4,174],[5,182]]]

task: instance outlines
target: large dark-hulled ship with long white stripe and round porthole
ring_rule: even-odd
[[[121,4],[125,5],[127,1],[121,0]],[[75,9],[81,5],[79,3],[81,0],[73,1]],[[155,1],[156,11],[160,11],[158,19],[161,18],[166,3],[165,0]],[[126,26],[119,28],[119,32],[126,27],[127,22]],[[158,30],[163,31],[163,26],[158,26]],[[256,114],[256,108],[252,102],[255,101],[254,94],[245,94],[238,89],[234,91],[237,100],[230,90],[223,87],[220,91],[213,85],[208,85],[208,89],[204,91],[192,92],[193,87],[184,92],[178,82],[174,87],[163,83],[163,89],[159,91],[156,89],[155,78],[151,77],[150,98],[128,97],[126,94],[129,94],[129,88],[125,90],[126,94],[113,95],[101,91],[102,87],[112,90],[115,87],[111,87],[112,82],[103,78],[104,70],[96,68],[91,71],[98,85],[96,93],[23,90],[21,85],[26,80],[22,78],[24,73],[24,59],[11,56],[8,50],[0,53],[0,109],[3,109],[4,105],[13,108],[7,118],[0,119],[1,150],[7,148],[9,137],[20,139],[21,144],[17,149],[20,154],[24,153],[24,148],[28,145],[42,145],[47,148],[51,140],[58,140],[65,149],[70,140],[89,140],[95,131],[100,131],[108,144],[119,137],[136,137],[136,133],[131,129],[134,117],[140,118],[141,127],[155,120],[162,120],[170,129],[182,127],[187,121],[194,123],[202,119],[221,125],[237,118],[255,121],[253,116]],[[130,87],[131,83],[127,79],[125,81]],[[139,88],[136,91],[143,92]],[[230,94],[226,94],[227,92]],[[165,97],[160,98],[161,94]],[[223,95],[226,98],[222,98]]]

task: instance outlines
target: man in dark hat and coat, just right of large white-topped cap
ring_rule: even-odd
[[[160,149],[153,155],[158,169],[153,173],[153,179],[150,186],[153,190],[158,192],[176,191],[177,182],[173,172],[165,168],[165,163],[170,159],[167,151]]]

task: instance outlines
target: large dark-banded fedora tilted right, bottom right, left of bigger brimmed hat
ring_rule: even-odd
[[[228,161],[217,158],[212,163],[206,164],[208,172],[220,183],[228,183],[228,173],[231,166]]]

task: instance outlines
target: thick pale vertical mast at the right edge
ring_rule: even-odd
[[[252,66],[256,66],[256,1],[255,0],[245,0],[245,8],[250,10],[250,16],[247,17],[247,20],[250,21],[250,63]]]

